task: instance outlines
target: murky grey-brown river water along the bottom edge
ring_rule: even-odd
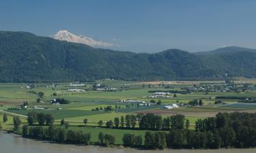
[[[75,146],[25,139],[0,131],[0,153],[255,153],[255,149],[220,150],[135,150],[131,148],[103,148],[98,146]]]

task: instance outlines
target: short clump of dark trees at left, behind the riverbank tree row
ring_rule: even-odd
[[[38,122],[39,125],[51,125],[54,122],[54,117],[52,114],[38,113],[35,111],[29,112],[27,114],[27,123],[33,125]]]

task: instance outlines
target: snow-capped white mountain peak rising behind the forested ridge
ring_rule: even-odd
[[[74,35],[66,30],[58,31],[54,35],[54,38],[59,40],[70,41],[74,43],[87,44],[92,47],[109,48],[109,47],[115,46],[115,44],[110,44],[104,41],[97,41],[95,39],[92,39],[91,37]]]

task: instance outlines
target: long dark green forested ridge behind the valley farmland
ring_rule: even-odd
[[[256,53],[192,54],[166,50],[155,54],[91,48],[84,44],[0,31],[0,81],[190,80],[255,77]]]

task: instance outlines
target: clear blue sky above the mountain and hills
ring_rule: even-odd
[[[256,48],[255,8],[254,0],[2,0],[0,31],[68,30],[132,52]]]

